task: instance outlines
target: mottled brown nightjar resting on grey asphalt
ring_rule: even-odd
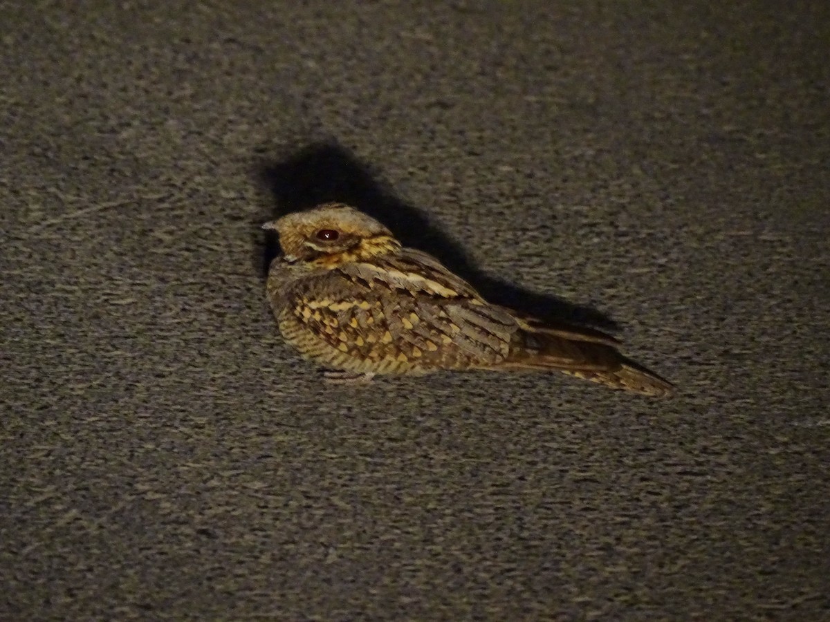
[[[295,211],[262,228],[276,231],[282,250],[266,279],[276,323],[328,381],[554,371],[645,396],[673,391],[624,357],[611,335],[487,302],[435,257],[403,246],[344,203]]]

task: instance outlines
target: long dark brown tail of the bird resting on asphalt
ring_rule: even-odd
[[[514,313],[515,316],[515,313]],[[499,367],[555,370],[604,386],[646,396],[671,395],[670,382],[638,365],[617,349],[618,341],[591,328],[556,326],[535,318],[516,318],[520,329]]]

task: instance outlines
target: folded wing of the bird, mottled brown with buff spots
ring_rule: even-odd
[[[419,251],[339,265],[307,283],[289,313],[351,356],[423,368],[491,367],[515,319]]]

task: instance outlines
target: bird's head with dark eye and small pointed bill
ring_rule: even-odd
[[[337,265],[396,252],[400,242],[374,218],[344,203],[325,203],[266,222],[288,261]]]

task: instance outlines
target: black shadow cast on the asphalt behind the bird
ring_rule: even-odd
[[[493,303],[540,319],[618,329],[618,324],[598,309],[522,289],[484,274],[472,265],[460,245],[432,225],[417,208],[395,197],[377,181],[371,168],[338,143],[311,143],[285,158],[261,158],[256,165],[256,176],[275,205],[268,217],[278,218],[325,202],[344,202],[383,222],[404,246],[425,250],[437,257]],[[264,246],[261,239],[257,237],[254,252],[261,277],[265,279],[268,265],[279,254],[279,245],[276,236],[270,233],[265,237]]]

